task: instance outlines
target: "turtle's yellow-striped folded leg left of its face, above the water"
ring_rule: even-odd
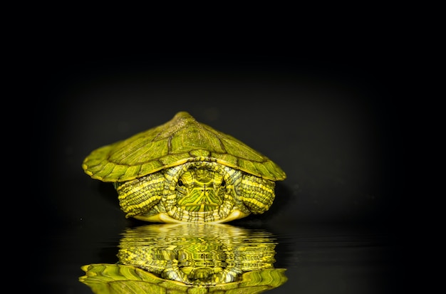
[[[139,216],[150,211],[160,202],[164,187],[165,177],[162,172],[155,172],[122,184],[115,183],[119,204],[126,213],[125,217]]]

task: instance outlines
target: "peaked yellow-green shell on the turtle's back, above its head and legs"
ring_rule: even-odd
[[[83,169],[103,182],[127,182],[186,162],[209,161],[272,181],[282,169],[263,154],[230,135],[178,112],[163,125],[91,152]]]

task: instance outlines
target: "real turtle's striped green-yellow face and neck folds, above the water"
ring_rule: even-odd
[[[216,162],[189,162],[167,169],[165,177],[170,189],[162,204],[172,219],[220,222],[249,214],[237,196],[242,172],[236,169]]]

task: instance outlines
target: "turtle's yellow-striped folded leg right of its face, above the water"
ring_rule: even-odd
[[[251,213],[263,214],[273,204],[274,186],[273,181],[244,174],[239,196]]]

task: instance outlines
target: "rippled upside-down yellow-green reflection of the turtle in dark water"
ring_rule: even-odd
[[[227,224],[152,224],[123,233],[117,264],[83,266],[94,293],[262,293],[286,282],[271,233]]]

